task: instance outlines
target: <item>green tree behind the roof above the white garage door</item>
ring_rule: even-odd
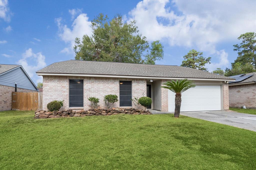
[[[198,52],[196,50],[190,50],[188,54],[183,56],[185,60],[182,61],[180,66],[196,68],[199,70],[207,71],[207,68],[204,66],[211,61],[211,57],[205,58],[203,57],[203,52]]]

